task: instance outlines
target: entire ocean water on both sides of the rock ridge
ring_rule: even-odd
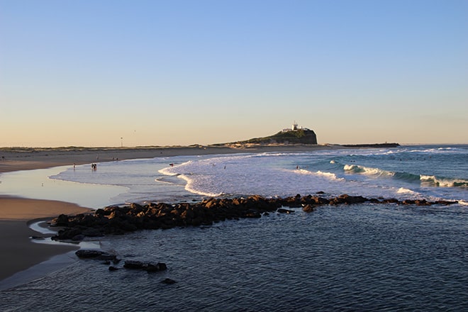
[[[0,291],[1,311],[468,311],[468,145],[156,157],[34,172],[2,174],[0,192],[57,199],[56,187],[60,200],[93,208],[318,191],[458,204],[294,208],[94,239],[123,260],[168,269],[119,264],[110,272],[71,254],[55,272]],[[50,178],[21,190],[27,174]]]

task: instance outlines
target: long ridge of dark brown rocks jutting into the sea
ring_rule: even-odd
[[[63,227],[54,240],[83,240],[85,237],[101,235],[121,235],[135,230],[168,229],[174,227],[211,225],[225,220],[240,218],[260,218],[269,213],[294,213],[286,209],[302,207],[311,212],[321,205],[351,205],[361,203],[399,204],[399,205],[450,205],[456,201],[426,201],[397,199],[367,199],[362,196],[343,194],[333,198],[322,196],[291,196],[284,199],[265,199],[262,196],[233,199],[205,199],[197,203],[147,205],[130,204],[129,206],[108,206],[98,209],[94,214],[77,216],[60,215],[51,221],[52,226]],[[284,208],[286,207],[286,208]]]

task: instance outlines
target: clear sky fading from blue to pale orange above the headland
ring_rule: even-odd
[[[466,0],[0,0],[0,147],[468,143]]]

